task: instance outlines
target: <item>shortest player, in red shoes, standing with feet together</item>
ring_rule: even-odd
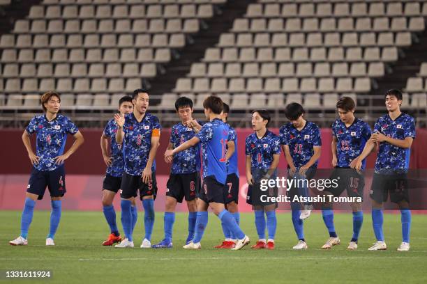
[[[253,134],[246,137],[246,180],[248,181],[248,196],[246,203],[252,205],[255,212],[255,227],[257,228],[258,241],[252,248],[274,249],[274,236],[276,235],[277,203],[262,200],[262,195],[275,197],[277,187],[262,191],[261,180],[276,179],[278,162],[280,159],[280,139],[270,132],[267,126],[270,123],[269,111],[260,109],[252,113]],[[267,222],[266,222],[267,217]],[[269,238],[266,242],[265,229]]]

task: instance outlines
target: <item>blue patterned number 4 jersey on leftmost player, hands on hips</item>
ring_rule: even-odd
[[[76,134],[79,129],[70,118],[58,113],[54,120],[45,115],[35,116],[27,126],[27,133],[36,132],[36,155],[40,157],[34,168],[38,171],[54,171],[58,165],[54,158],[63,155],[67,134]]]

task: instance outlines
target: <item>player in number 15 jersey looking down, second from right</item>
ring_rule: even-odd
[[[370,139],[370,127],[368,123],[354,117],[355,104],[351,97],[341,97],[336,103],[339,118],[332,124],[332,166],[334,171],[329,180],[336,180],[338,187],[324,189],[324,195],[340,196],[344,190],[349,197],[364,197],[364,175],[350,168],[353,159],[359,157],[364,150],[366,141]],[[362,161],[361,170],[366,166],[366,159]],[[361,202],[350,203],[353,212],[353,237],[347,249],[357,249],[357,240],[364,215],[361,211]],[[322,248],[331,248],[340,244],[334,226],[334,211],[332,204],[322,204],[322,217],[329,231],[329,239]]]

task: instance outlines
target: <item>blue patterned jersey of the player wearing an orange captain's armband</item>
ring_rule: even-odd
[[[160,135],[160,129],[157,116],[153,116],[151,113],[145,113],[140,123],[133,113],[125,116],[123,159],[124,171],[128,175],[142,175],[149,159],[151,135],[154,131]],[[153,161],[151,171],[156,171],[156,160]]]

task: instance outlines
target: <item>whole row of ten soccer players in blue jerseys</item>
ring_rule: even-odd
[[[12,245],[27,245],[28,231],[36,200],[41,200],[46,187],[52,199],[50,232],[46,245],[54,245],[54,235],[61,219],[61,198],[66,193],[63,161],[82,145],[84,139],[73,122],[59,113],[60,96],[47,92],[41,98],[44,115],[31,119],[22,140],[33,169],[27,187],[21,219],[21,235],[10,241]],[[370,189],[372,199],[373,230],[377,242],[369,250],[384,250],[382,203],[390,196],[401,212],[402,242],[398,251],[410,249],[409,194],[407,170],[410,148],[415,138],[414,118],[400,112],[402,93],[389,90],[385,94],[387,114],[378,118],[373,130],[363,120],[354,116],[355,103],[350,97],[341,97],[336,104],[339,118],[332,125],[332,166],[330,179],[338,180],[338,187],[322,191],[325,196],[363,198],[364,169],[366,157],[377,150],[375,173]],[[237,166],[237,133],[227,123],[230,107],[220,97],[210,96],[203,102],[207,121],[193,119],[193,102],[188,97],[179,97],[175,102],[181,120],[171,129],[170,142],[164,159],[172,164],[167,181],[164,214],[164,237],[158,244],[151,244],[154,226],[154,200],[157,195],[156,152],[159,147],[161,125],[156,116],[147,112],[149,94],[137,89],[132,96],[119,100],[119,113],[110,120],[100,138],[103,159],[107,171],[103,180],[103,213],[110,226],[110,235],[105,246],[118,248],[134,247],[133,231],[137,223],[137,196],[144,207],[144,238],[141,248],[172,248],[172,232],[175,208],[185,198],[188,207],[188,236],[183,248],[201,248],[204,230],[208,223],[208,208],[218,216],[224,233],[222,244],[216,248],[239,250],[249,244],[249,237],[241,230],[239,201],[239,170]],[[311,180],[315,177],[321,155],[320,128],[304,118],[304,107],[291,103],[285,107],[285,116],[290,123],[280,127],[279,135],[270,132],[269,111],[253,111],[251,123],[253,134],[245,141],[246,202],[253,207],[258,240],[254,249],[274,249],[277,228],[277,187],[261,189],[263,180],[278,177],[281,152],[287,161],[287,178]],[[36,153],[30,143],[36,133]],[[70,149],[64,152],[67,134],[75,138]],[[108,145],[110,144],[110,151]],[[200,175],[202,177],[200,177]],[[302,183],[304,184],[304,182]],[[121,197],[121,224],[119,233],[114,210],[114,196]],[[267,201],[262,196],[267,195]],[[309,196],[306,185],[292,187],[287,196]],[[360,199],[361,200],[361,199]],[[352,207],[353,235],[347,248],[357,249],[359,233],[364,220],[361,202],[350,203]],[[298,242],[294,249],[308,248],[304,237],[304,220],[310,216],[310,202],[292,202],[292,224]],[[322,248],[340,244],[334,226],[332,203],[322,203],[322,219],[329,232],[329,239]],[[267,231],[267,235],[266,235]]]

